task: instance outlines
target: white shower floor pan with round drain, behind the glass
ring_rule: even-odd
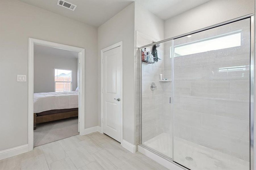
[[[144,145],[172,158],[172,136],[161,133]],[[249,170],[249,161],[174,137],[174,160],[189,169]],[[192,159],[190,159],[192,158]]]

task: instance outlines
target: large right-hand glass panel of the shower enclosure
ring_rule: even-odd
[[[174,39],[173,160],[249,169],[250,19]]]

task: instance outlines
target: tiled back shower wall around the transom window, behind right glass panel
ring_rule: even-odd
[[[246,161],[249,161],[249,23],[245,19],[174,40],[175,46],[241,30],[241,46],[175,57],[174,136]]]

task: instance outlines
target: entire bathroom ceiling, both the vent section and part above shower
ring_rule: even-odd
[[[77,5],[75,11],[57,5],[57,0],[20,1],[98,27],[133,1],[166,20],[209,0],[66,0]]]

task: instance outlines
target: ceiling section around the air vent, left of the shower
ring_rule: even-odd
[[[21,1],[95,27],[102,25],[132,3],[132,1],[126,0],[66,0],[77,5],[75,11],[72,11],[57,5],[58,0]]]

